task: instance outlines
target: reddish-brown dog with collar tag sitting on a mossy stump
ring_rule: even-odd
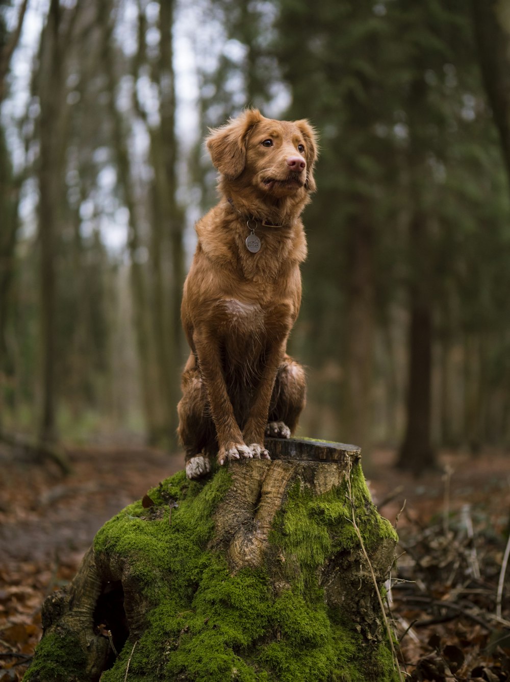
[[[287,355],[301,303],[306,238],[300,215],[315,192],[317,139],[306,119],[247,109],[210,130],[221,200],[195,226],[182,325],[178,436],[191,479],[240,458],[266,458],[264,436],[289,438],[304,407],[302,366]]]

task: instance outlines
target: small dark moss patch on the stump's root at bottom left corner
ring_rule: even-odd
[[[51,632],[37,644],[37,656],[23,682],[74,682],[81,680],[86,657],[80,642],[66,629]]]

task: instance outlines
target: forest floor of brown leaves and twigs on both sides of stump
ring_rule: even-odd
[[[69,582],[101,525],[183,466],[139,447],[73,447],[73,473],[0,445],[0,682],[20,680],[46,595]],[[510,522],[510,456],[443,452],[419,479],[366,464],[374,503],[400,535],[389,591],[401,668],[413,681],[510,679],[510,589],[496,616]],[[405,501],[405,505],[404,505]],[[404,509],[402,510],[402,507]]]

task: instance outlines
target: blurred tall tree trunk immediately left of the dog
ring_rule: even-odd
[[[143,14],[140,11],[140,20]],[[177,412],[180,398],[178,377],[184,359],[180,324],[180,298],[184,283],[182,246],[183,213],[177,202],[176,92],[174,74],[174,2],[159,3],[157,19],[158,49],[150,55],[143,34],[138,31],[139,50],[149,68],[151,83],[159,105],[157,122],[151,122],[142,102],[137,100],[150,136],[150,163],[154,176],[150,186],[151,226],[150,263],[152,265],[153,333],[157,357],[157,378],[163,400],[163,432],[161,436],[175,445]],[[140,67],[136,78],[140,77]]]

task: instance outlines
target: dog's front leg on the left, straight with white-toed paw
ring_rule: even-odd
[[[225,378],[221,369],[219,340],[214,331],[195,331],[193,343],[198,358],[198,367],[208,394],[212,421],[218,438],[218,462],[240,457],[253,457],[251,448],[242,439],[242,433],[234,416],[232,402],[227,393]]]

